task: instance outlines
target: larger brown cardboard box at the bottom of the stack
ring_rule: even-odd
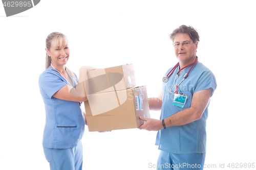
[[[146,86],[88,95],[84,102],[89,131],[138,128],[150,118]]]

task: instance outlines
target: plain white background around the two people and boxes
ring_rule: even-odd
[[[199,61],[214,72],[217,90],[207,120],[206,165],[256,163],[254,1],[42,0],[6,17],[0,5],[0,169],[50,169],[42,150],[45,108],[38,77],[45,69],[45,39],[69,38],[67,66],[133,63],[137,85],[157,96],[177,63],[168,35],[180,25],[200,35]],[[160,112],[151,112],[159,118]],[[138,129],[84,132],[83,169],[153,169],[157,132]],[[222,168],[224,169],[224,168]]]

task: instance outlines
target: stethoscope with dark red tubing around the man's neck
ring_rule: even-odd
[[[177,72],[177,74],[176,74],[176,77],[175,77],[175,79],[174,79],[174,83],[175,83],[176,78],[177,78],[177,76],[179,75],[180,71],[183,70],[183,69],[185,69],[185,68],[187,68],[187,67],[189,67],[190,65],[192,65],[191,68],[188,70],[188,72],[184,75],[183,80],[178,84],[178,86],[179,86],[179,85],[188,77],[188,74],[189,74],[190,70],[197,64],[197,62],[198,62],[198,57],[196,57],[196,60],[195,60],[193,63],[188,64],[188,65],[186,65],[185,67],[181,68],[181,69]],[[172,76],[174,70],[175,70],[179,65],[180,65],[180,63],[178,62],[178,63],[168,72],[168,74],[166,75],[166,77],[163,77],[163,82],[164,82],[164,83],[166,83],[166,82],[168,81],[169,77]],[[172,87],[170,88],[170,90],[168,90],[170,93],[175,93],[175,91],[172,92],[172,88],[173,88],[173,86],[174,86],[174,83],[173,83]],[[178,89],[177,89],[178,86],[176,86],[176,92],[178,91]]]

